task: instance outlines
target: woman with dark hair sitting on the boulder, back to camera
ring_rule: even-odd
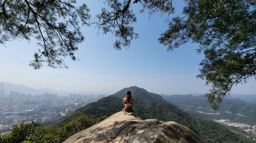
[[[134,99],[132,99],[131,91],[126,91],[125,98],[123,98],[123,112],[124,114],[133,114]]]

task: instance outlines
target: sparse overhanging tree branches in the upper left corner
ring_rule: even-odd
[[[0,44],[34,37],[40,46],[30,65],[46,62],[50,67],[67,67],[63,57],[76,60],[77,44],[84,40],[78,23],[89,25],[86,4],[74,0],[0,0]]]

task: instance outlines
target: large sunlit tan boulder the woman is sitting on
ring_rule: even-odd
[[[202,142],[187,127],[176,122],[140,120],[117,112],[104,121],[69,137],[73,142]]]

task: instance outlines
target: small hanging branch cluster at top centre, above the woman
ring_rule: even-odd
[[[131,9],[132,0],[112,0],[105,1],[107,7],[101,9],[101,13],[96,17],[98,21],[96,26],[103,31],[104,34],[111,32],[115,37],[114,48],[121,50],[121,47],[128,47],[131,40],[138,38],[138,34],[134,32],[132,23],[137,21],[137,17]],[[173,13],[174,8],[171,0],[153,0],[153,1],[134,1],[133,4],[140,3],[142,5],[141,12],[145,9],[149,14],[160,11],[162,13]]]

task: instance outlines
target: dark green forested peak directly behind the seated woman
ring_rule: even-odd
[[[132,92],[132,98],[135,100],[134,111],[136,115],[143,120],[155,118],[164,122],[175,121],[188,127],[204,142],[244,142],[244,140],[248,140],[244,137],[246,132],[240,129],[236,128],[236,130],[231,131],[221,124],[205,120],[196,114],[184,112],[177,108],[177,105],[164,100],[159,94],[147,92],[145,89],[136,86],[124,88],[109,97],[102,98],[97,102],[90,103],[77,109],[73,114],[58,123],[55,127],[60,127],[61,130],[64,131],[62,134],[67,134],[66,132],[68,130],[74,134],[79,130],[70,130],[70,127],[75,127],[77,124],[79,125],[80,122],[84,122],[84,120],[80,120],[84,115],[104,117],[121,111],[123,107],[122,98],[124,97],[126,90]],[[243,135],[234,132],[241,132]],[[248,142],[253,141],[248,140]]]

